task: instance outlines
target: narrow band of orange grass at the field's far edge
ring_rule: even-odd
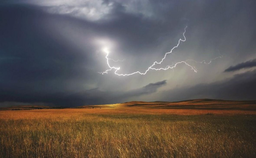
[[[244,110],[194,110],[194,109],[150,109],[150,108],[81,108],[81,109],[40,109],[20,111],[0,111],[0,119],[41,119],[57,117],[79,116],[81,114],[177,114],[177,115],[202,115],[202,114],[236,115],[253,114],[256,111]]]

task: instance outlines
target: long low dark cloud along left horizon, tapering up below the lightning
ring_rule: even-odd
[[[90,90],[85,90],[76,93],[50,93],[50,94],[40,94],[34,92],[13,92],[13,91],[3,91],[0,88],[2,95],[0,96],[0,102],[4,106],[9,104],[17,105],[17,103],[29,103],[26,104],[37,104],[38,102],[43,102],[45,105],[61,105],[61,106],[81,106],[81,105],[93,105],[93,104],[107,104],[107,103],[119,103],[125,100],[127,97],[141,96],[146,94],[151,94],[157,91],[159,87],[166,84],[166,80],[156,83],[150,83],[144,87],[129,90],[127,92],[122,91],[102,91],[99,88],[94,88]],[[40,104],[43,104],[40,103]]]

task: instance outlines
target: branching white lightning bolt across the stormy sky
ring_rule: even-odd
[[[161,64],[161,63],[163,62],[163,60],[166,58],[166,55],[167,55],[167,54],[170,54],[170,53],[172,54],[172,51],[173,51],[175,48],[177,48],[177,47],[179,46],[180,42],[185,42],[185,41],[186,41],[185,33],[186,33],[186,28],[187,28],[187,27],[188,27],[188,26],[186,26],[186,27],[184,28],[184,32],[183,32],[183,37],[184,37],[184,39],[179,39],[178,44],[177,44],[175,47],[173,47],[170,52],[165,53],[164,58],[162,58],[162,60],[161,60],[160,62],[155,61],[151,66],[148,67],[148,69],[147,69],[146,71],[144,71],[144,72],[136,71],[136,72],[133,72],[133,73],[130,73],[130,74],[118,74],[117,71],[120,70],[120,67],[110,66],[109,60],[113,60],[113,59],[108,58],[109,51],[108,51],[107,49],[104,49],[103,51],[107,53],[107,55],[105,56],[105,58],[107,59],[107,65],[108,65],[109,69],[107,69],[107,70],[104,71],[104,72],[99,72],[99,73],[100,73],[100,74],[107,74],[108,71],[111,71],[111,70],[114,69],[114,70],[115,70],[115,74],[118,75],[118,76],[129,76],[129,75],[133,75],[133,74],[145,75],[149,70],[156,70],[156,71],[158,71],[158,70],[173,69],[173,68],[175,68],[178,64],[182,64],[182,63],[185,64],[185,65],[187,65],[188,67],[190,67],[191,70],[193,70],[194,72],[197,72],[196,68],[193,67],[193,66],[191,66],[191,65],[189,65],[189,64],[187,63],[187,61],[194,61],[194,62],[196,62],[196,63],[210,64],[210,63],[212,62],[212,60],[215,60],[215,59],[217,59],[217,58],[221,58],[221,57],[216,57],[216,58],[214,58],[214,59],[211,59],[209,63],[206,63],[205,60],[203,60],[203,61],[201,61],[201,62],[197,62],[197,61],[195,61],[195,60],[189,59],[189,60],[177,62],[177,63],[172,64],[172,65],[168,65],[168,66],[166,66],[165,68],[153,68],[156,64]],[[113,61],[124,61],[124,60],[113,60]]]

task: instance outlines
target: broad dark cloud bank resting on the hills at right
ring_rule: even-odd
[[[194,98],[224,100],[255,100],[256,70],[236,74],[230,79],[192,87],[177,88],[160,93],[164,101],[179,101]]]

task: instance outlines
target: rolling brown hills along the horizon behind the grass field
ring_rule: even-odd
[[[0,110],[33,110],[33,109],[60,109],[61,106],[22,105],[0,108]],[[193,99],[177,102],[166,101],[130,101],[117,104],[84,105],[73,108],[162,108],[162,109],[212,109],[212,110],[256,110],[256,100],[234,101],[215,99]]]

